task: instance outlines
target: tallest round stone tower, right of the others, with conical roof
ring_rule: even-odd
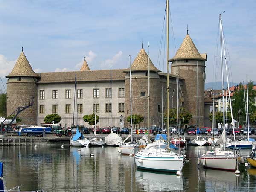
[[[204,81],[205,81],[205,61],[207,55],[200,54],[195,47],[189,34],[186,35],[183,43],[176,52],[175,56],[170,59],[171,73],[178,73],[184,79],[184,108],[192,113],[193,118],[189,125],[197,123],[197,84],[198,84],[198,116],[199,127],[204,126]],[[198,67],[197,67],[198,65]],[[198,71],[198,83],[197,83]]]

